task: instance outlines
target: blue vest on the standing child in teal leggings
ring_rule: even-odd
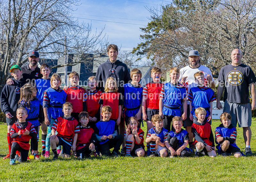
[[[49,120],[50,118],[57,119],[58,117],[63,116],[62,105],[66,101],[66,92],[61,89],[60,91],[56,91],[52,87],[46,89],[45,92],[49,98],[49,105],[47,108]]]

